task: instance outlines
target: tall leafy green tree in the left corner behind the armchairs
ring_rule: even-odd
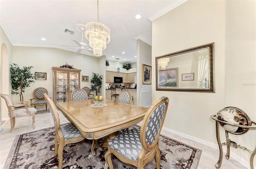
[[[33,66],[20,68],[17,64],[10,65],[12,94],[20,94],[20,101],[23,101],[24,89],[34,83],[34,74],[31,73]]]

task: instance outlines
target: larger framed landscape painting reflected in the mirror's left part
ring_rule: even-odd
[[[156,83],[157,90],[178,87],[178,68],[159,70]]]

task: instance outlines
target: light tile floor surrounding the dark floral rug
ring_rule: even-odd
[[[61,123],[68,122],[68,120],[62,114],[60,114],[60,121]],[[0,169],[4,168],[4,163],[8,157],[16,135],[54,126],[50,113],[48,113],[48,111],[38,111],[35,117],[35,126],[36,128],[33,129],[31,116],[16,118],[15,128],[13,129],[12,133],[10,133],[10,121],[8,120],[2,122],[3,129],[0,132]],[[162,134],[176,139],[182,143],[201,149],[202,154],[200,157],[198,169],[215,169],[214,165],[218,161],[219,155],[218,150],[185,139],[178,135],[168,133],[166,131],[162,131]],[[246,169],[246,167],[242,166],[232,158],[226,160],[224,157],[222,160],[221,169]]]

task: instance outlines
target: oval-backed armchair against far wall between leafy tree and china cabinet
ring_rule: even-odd
[[[38,87],[34,89],[33,91],[34,98],[30,99],[30,105],[34,106],[35,109],[37,105],[45,105],[45,108],[47,110],[47,103],[46,103],[46,100],[44,99],[44,93],[48,94],[48,91],[44,87]],[[32,101],[32,100],[35,100],[35,101]]]

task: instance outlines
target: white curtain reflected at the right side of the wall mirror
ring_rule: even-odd
[[[198,57],[198,87],[204,87],[204,79],[208,80],[208,55]]]

